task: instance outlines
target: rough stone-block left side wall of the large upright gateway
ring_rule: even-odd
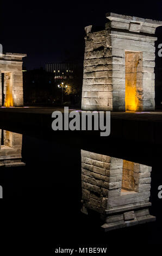
[[[107,47],[107,31],[89,32],[85,37],[82,109],[112,110],[112,54]]]

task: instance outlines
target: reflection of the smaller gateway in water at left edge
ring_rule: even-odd
[[[21,134],[0,130],[0,167],[24,166],[21,150]]]

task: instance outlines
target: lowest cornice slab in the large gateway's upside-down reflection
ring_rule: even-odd
[[[116,222],[111,222],[111,223],[105,223],[101,226],[101,228],[107,232],[107,231],[110,231],[113,229],[131,227],[133,225],[152,222],[155,220],[156,220],[156,218],[154,216],[146,215],[146,216],[135,217],[134,220],[132,220],[132,221],[116,221]]]

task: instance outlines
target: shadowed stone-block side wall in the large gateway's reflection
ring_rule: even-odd
[[[109,156],[82,150],[82,199],[89,209],[107,209],[110,169]]]

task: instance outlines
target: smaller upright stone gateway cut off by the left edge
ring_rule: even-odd
[[[22,58],[26,56],[5,53],[0,57],[0,106],[23,106]]]

